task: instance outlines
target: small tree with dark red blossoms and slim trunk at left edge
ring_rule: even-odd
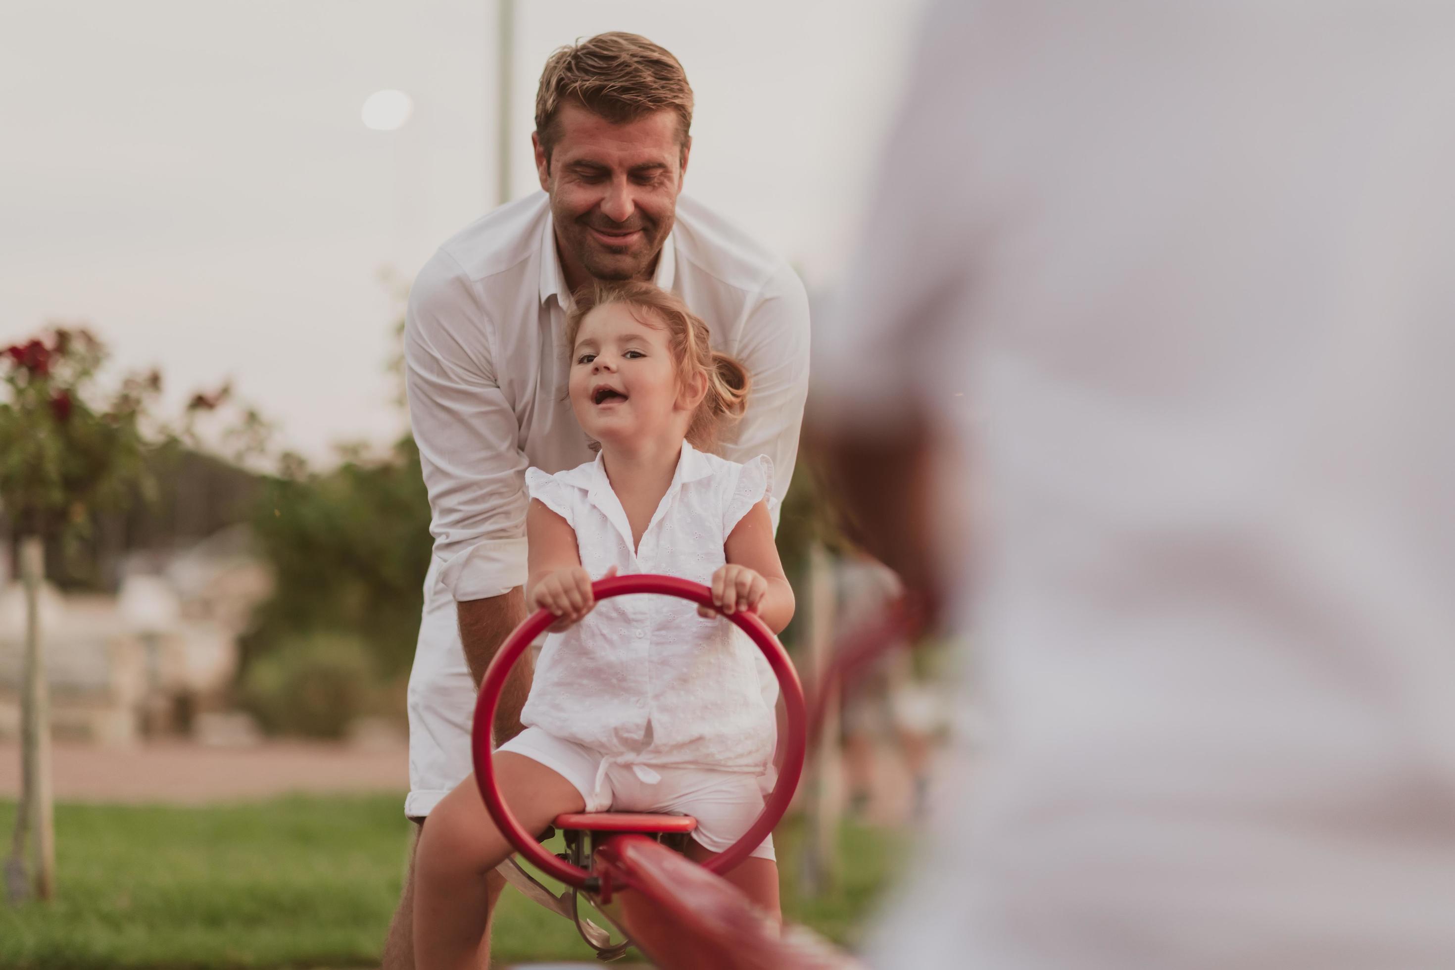
[[[48,538],[86,528],[95,508],[125,502],[144,483],[146,455],[160,429],[148,433],[148,409],[162,390],[151,371],[128,377],[103,396],[96,378],[106,348],[84,329],[54,327],[4,350],[0,371],[0,503],[15,524],[26,589],[25,675],[22,682],[20,807],[6,864],[13,900],[55,890],[55,851],[49,791],[49,726],[39,588]],[[26,843],[33,874],[26,873]]]

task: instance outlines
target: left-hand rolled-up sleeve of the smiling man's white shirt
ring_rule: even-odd
[[[409,294],[404,384],[429,490],[438,582],[457,601],[525,582],[525,455],[469,276],[436,253]]]

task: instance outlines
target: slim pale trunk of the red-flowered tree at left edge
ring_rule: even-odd
[[[45,665],[41,652],[41,585],[45,580],[45,547],[36,535],[20,540],[20,580],[25,583],[25,672],[20,684],[20,804],[6,864],[6,883],[15,902],[32,890],[26,875],[26,842],[31,843],[33,891],[41,899],[55,893],[55,827],[51,809],[51,723]]]

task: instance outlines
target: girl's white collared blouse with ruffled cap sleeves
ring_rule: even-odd
[[[554,476],[530,468],[525,486],[576,531],[592,579],[615,566],[621,574],[710,585],[733,526],[758,502],[773,502],[773,462],[758,457],[741,465],[682,442],[672,484],[636,550],[599,455]],[[767,672],[746,634],[728,620],[698,617],[695,604],[614,596],[546,638],[521,721],[617,763],[765,771],[777,695],[764,684]]]

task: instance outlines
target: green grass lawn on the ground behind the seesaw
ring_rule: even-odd
[[[375,964],[403,878],[400,798],[288,797],[207,807],[57,809],[57,899],[0,903],[0,967],[362,967]],[[15,804],[0,803],[0,835]],[[780,832],[784,912],[851,942],[901,857],[874,829],[841,833],[832,896],[794,890],[793,830]],[[501,961],[591,951],[566,921],[506,891]]]

